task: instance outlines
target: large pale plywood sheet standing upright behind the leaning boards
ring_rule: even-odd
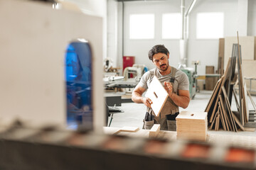
[[[225,53],[224,53],[224,68],[227,67],[228,58],[232,55],[233,44],[238,43],[237,37],[225,38]],[[241,45],[242,60],[254,60],[255,58],[255,37],[239,37],[239,44]]]

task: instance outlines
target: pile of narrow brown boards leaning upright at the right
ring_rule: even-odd
[[[244,130],[243,126],[248,122],[248,91],[242,77],[241,61],[241,51],[238,42],[238,44],[233,44],[232,56],[228,60],[225,73],[215,85],[213,94],[206,106],[205,111],[208,112],[209,130],[223,128],[223,130],[238,132],[239,128]],[[238,63],[237,73],[235,72],[236,63]],[[235,85],[238,85],[238,97],[234,89]],[[238,111],[231,111],[232,96],[235,97]]]

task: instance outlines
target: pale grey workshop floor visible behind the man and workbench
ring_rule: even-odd
[[[200,93],[197,93],[196,96],[193,98],[193,100],[190,101],[188,108],[183,109],[180,108],[180,111],[204,111],[208,101],[210,99],[210,96],[212,94],[212,91],[200,91]],[[252,96],[253,100],[256,103],[256,96]],[[248,107],[249,110],[253,110],[252,104],[250,101],[248,101]],[[115,113],[113,115],[113,120],[111,123],[111,127],[124,127],[124,126],[132,126],[132,127],[139,127],[142,128],[142,120],[144,118],[144,115],[146,113],[146,106],[141,103],[122,103],[122,106],[118,107],[121,108],[124,113]],[[232,101],[232,110],[235,111],[235,101]],[[110,123],[110,117],[109,117],[109,123]],[[219,131],[208,131],[209,133],[213,134],[234,134],[234,135],[255,135],[256,132],[229,132],[224,130]]]

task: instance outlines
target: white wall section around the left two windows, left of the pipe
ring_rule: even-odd
[[[145,64],[149,69],[154,64],[149,60],[148,52],[156,44],[164,44],[170,52],[170,62],[177,66],[179,61],[179,40],[161,39],[161,15],[169,11],[180,12],[180,1],[135,1],[124,3],[124,55],[135,56],[137,64]],[[129,15],[132,13],[155,14],[155,38],[153,40],[129,40]]]

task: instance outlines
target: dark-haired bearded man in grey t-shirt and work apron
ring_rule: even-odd
[[[135,103],[144,103],[146,106],[146,116],[144,119],[144,129],[151,129],[156,124],[161,125],[161,130],[176,131],[176,116],[178,107],[187,108],[189,98],[189,81],[184,72],[169,65],[169,50],[164,45],[155,45],[149,50],[149,60],[153,62],[156,68],[146,72],[139,84],[132,91],[132,101]],[[169,94],[164,107],[158,117],[151,109],[152,101],[150,98],[143,97],[142,94],[149,88],[154,75],[163,84],[164,89]]]

